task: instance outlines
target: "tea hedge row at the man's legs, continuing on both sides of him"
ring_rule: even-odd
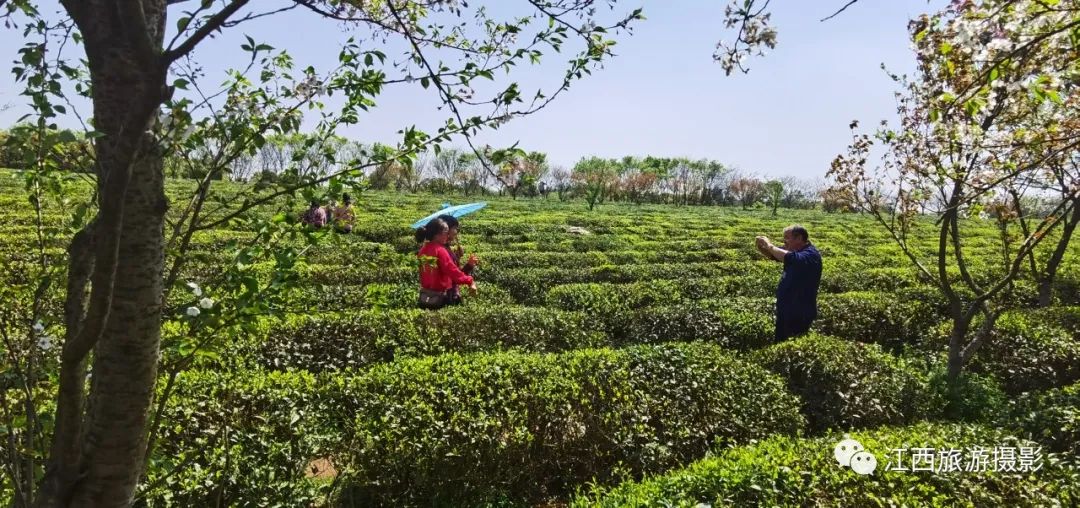
[[[566,284],[548,292],[545,306],[585,312],[602,322],[612,337],[644,342],[647,337],[687,340],[727,336],[741,339],[732,344],[734,347],[754,347],[772,337],[773,299],[761,294],[762,288],[745,277],[687,283]],[[747,294],[757,297],[735,296]],[[894,352],[905,345],[921,344],[942,320],[929,304],[887,293],[822,294],[818,304],[814,330],[880,344]]]

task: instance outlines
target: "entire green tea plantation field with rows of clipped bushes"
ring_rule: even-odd
[[[0,184],[0,277],[16,288],[38,236],[21,181]],[[189,188],[170,184],[174,209]],[[464,202],[360,195],[353,233],[307,252],[281,316],[163,376],[171,398],[139,503],[1080,504],[1080,249],[1052,307],[1017,283],[946,417],[944,302],[868,217],[487,198],[461,230],[480,293],[423,311],[409,224],[447,199]],[[973,220],[972,265],[988,278],[999,232]],[[819,319],[772,344],[781,265],[754,237],[779,241],[793,223],[823,255]],[[233,242],[254,235],[198,232],[180,283],[213,294]],[[50,255],[65,244],[59,233]],[[174,291],[168,306],[192,298]],[[837,465],[845,435],[875,454],[873,474]],[[887,470],[892,449],[972,446],[1038,449],[1041,467]]]

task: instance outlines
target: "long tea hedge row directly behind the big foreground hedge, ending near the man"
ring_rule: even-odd
[[[503,349],[566,351],[667,342],[755,349],[770,344],[772,335],[771,317],[692,305],[630,312],[609,334],[603,322],[578,311],[470,304],[438,312],[383,309],[270,321],[266,333],[254,338],[254,358],[267,369],[318,372],[400,358]]]

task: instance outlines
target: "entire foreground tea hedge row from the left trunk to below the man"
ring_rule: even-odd
[[[327,463],[338,505],[536,504],[805,425],[782,379],[703,344],[190,372],[166,407],[151,505],[319,504]]]

